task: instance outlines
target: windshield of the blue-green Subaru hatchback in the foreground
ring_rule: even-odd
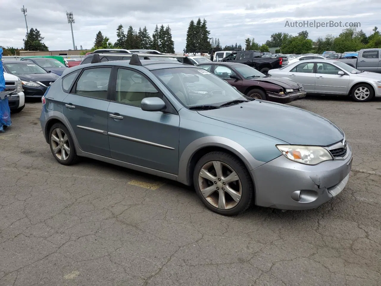
[[[152,71],[186,107],[220,106],[232,100],[245,100],[242,93],[223,79],[202,68],[176,67]]]

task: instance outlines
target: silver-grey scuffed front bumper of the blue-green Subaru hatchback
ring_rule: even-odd
[[[293,162],[285,156],[251,171],[255,182],[255,204],[285,210],[314,209],[339,194],[348,182],[352,149],[342,160],[317,165]]]

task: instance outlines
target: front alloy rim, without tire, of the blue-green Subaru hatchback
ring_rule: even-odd
[[[218,209],[231,209],[240,202],[242,183],[234,169],[221,161],[210,161],[199,173],[204,198]]]

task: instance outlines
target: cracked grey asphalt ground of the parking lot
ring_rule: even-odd
[[[314,210],[223,217],[175,182],[90,159],[60,165],[40,101],[27,103],[0,133],[0,285],[379,286],[381,100],[290,105],[344,130],[346,188]]]

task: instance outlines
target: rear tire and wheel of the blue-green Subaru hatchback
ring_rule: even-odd
[[[59,136],[58,130],[61,130],[61,136]],[[66,140],[65,136],[67,137]],[[52,140],[53,137],[56,138],[56,140]],[[78,162],[79,157],[75,152],[72,136],[69,130],[67,130],[65,125],[63,125],[62,123],[56,123],[50,128],[49,145],[53,157],[60,164],[68,166]],[[54,149],[56,149],[57,152],[54,152]]]

